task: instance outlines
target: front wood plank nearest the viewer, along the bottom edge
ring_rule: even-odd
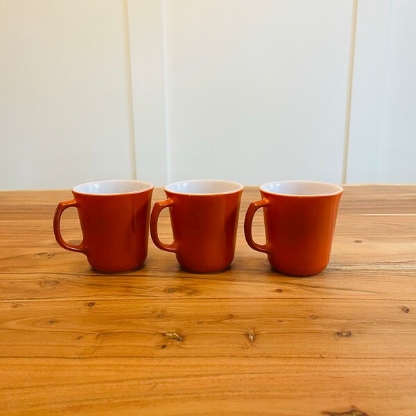
[[[415,359],[400,358],[0,358],[0,410],[318,416],[355,406],[366,415],[410,416],[415,367]]]

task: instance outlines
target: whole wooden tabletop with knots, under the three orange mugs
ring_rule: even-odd
[[[246,245],[257,189],[232,268],[210,275],[151,241],[141,270],[93,272],[53,237],[69,198],[0,193],[1,415],[416,415],[416,186],[345,187],[308,278]],[[80,239],[75,209],[62,222]]]

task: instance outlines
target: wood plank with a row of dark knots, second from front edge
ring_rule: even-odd
[[[415,311],[318,296],[1,302],[0,356],[416,358]]]

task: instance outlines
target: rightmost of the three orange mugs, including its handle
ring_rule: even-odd
[[[327,267],[343,188],[325,182],[270,182],[260,187],[262,200],[245,214],[244,234],[253,250],[266,253],[285,275],[317,275]],[[252,221],[264,209],[266,244],[254,243]]]

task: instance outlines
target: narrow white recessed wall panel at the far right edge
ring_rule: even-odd
[[[394,0],[378,182],[416,182],[416,1]]]

